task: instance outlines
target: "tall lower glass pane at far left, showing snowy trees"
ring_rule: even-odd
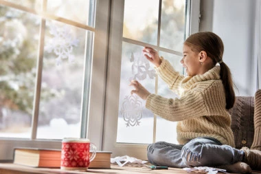
[[[40,19],[0,6],[0,136],[29,138]]]

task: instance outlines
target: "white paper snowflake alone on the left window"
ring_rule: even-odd
[[[56,54],[56,65],[60,65],[62,58],[68,58],[73,63],[75,56],[72,54],[73,47],[78,46],[78,39],[73,38],[68,25],[50,25],[50,34],[53,38],[45,46],[47,52]]]

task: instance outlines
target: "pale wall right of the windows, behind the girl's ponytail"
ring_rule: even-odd
[[[237,96],[256,91],[253,36],[256,1],[201,0],[200,31],[212,31],[223,39],[223,61],[230,67]]]

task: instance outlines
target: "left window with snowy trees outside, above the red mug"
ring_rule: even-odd
[[[2,160],[12,159],[14,146],[60,148],[64,137],[86,137],[95,5],[0,1]]]

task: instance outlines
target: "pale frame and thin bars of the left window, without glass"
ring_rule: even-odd
[[[43,0],[46,3],[46,0]],[[45,27],[45,20],[52,19],[59,21],[60,18],[56,18],[52,15],[43,13],[38,13],[32,9],[25,8],[23,6],[19,6],[15,3],[10,3],[8,1],[0,0],[0,5],[3,6],[10,6],[12,8],[24,10],[26,12],[31,12],[32,14],[40,15],[41,19],[41,28]],[[70,24],[71,22],[74,23],[76,26],[80,28],[84,28],[91,32],[94,32],[94,38],[87,43],[87,49],[91,50],[92,52],[86,51],[86,56],[91,56],[91,58],[85,59],[84,65],[84,84],[83,84],[83,91],[82,91],[82,116],[81,116],[81,138],[89,138],[89,129],[93,130],[92,124],[90,122],[97,122],[99,125],[95,125],[95,127],[103,127],[102,120],[96,120],[96,118],[103,117],[103,108],[104,106],[101,103],[104,100],[104,89],[105,89],[105,77],[106,77],[106,53],[107,53],[107,43],[108,43],[108,26],[109,26],[109,8],[110,8],[110,0],[96,0],[95,4],[95,28],[89,27],[89,25],[83,25],[81,23],[77,23],[71,20],[65,19],[65,23]],[[40,43],[39,43],[40,44]],[[43,65],[43,48],[38,51],[38,62],[37,66],[41,68]],[[102,68],[100,65],[103,65]],[[13,151],[14,147],[36,147],[36,148],[45,148],[45,149],[61,149],[61,140],[43,140],[43,139],[36,139],[36,130],[37,130],[37,122],[38,122],[38,103],[41,91],[41,71],[37,72],[37,79],[36,79],[36,87],[35,87],[35,97],[36,100],[36,108],[33,111],[33,118],[32,118],[32,131],[31,131],[31,138],[0,138],[0,160],[1,161],[12,161],[13,159]],[[95,85],[100,83],[100,81],[95,80],[97,75],[100,74],[100,79],[102,80],[102,89],[98,89]],[[95,76],[93,78],[92,76]],[[88,78],[89,77],[89,78]],[[35,103],[35,101],[34,101]],[[93,107],[95,105],[99,105],[97,107]],[[96,110],[97,109],[97,110]],[[100,111],[98,113],[97,111]],[[99,114],[98,117],[94,115]],[[99,135],[98,140],[96,140],[96,146],[98,150],[100,149],[100,138],[102,135]],[[90,138],[89,138],[90,139]]]

